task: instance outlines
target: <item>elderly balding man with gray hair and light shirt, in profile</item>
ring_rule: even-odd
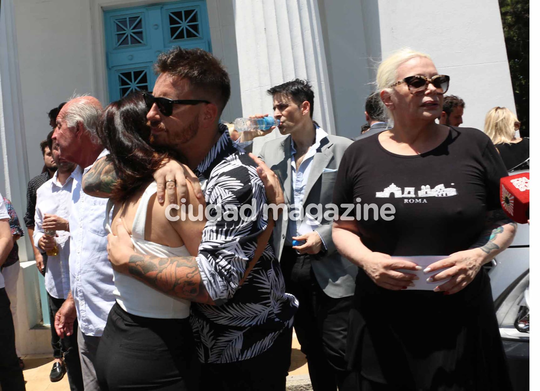
[[[81,190],[83,174],[109,152],[100,144],[96,128],[103,107],[96,98],[71,99],[56,118],[52,139],[60,158],[77,163],[69,201],[70,288],[68,299],[55,316],[60,338],[73,333],[78,320],[78,345],[85,391],[99,390],[94,362],[99,340],[114,304],[112,267],[107,259],[107,232],[103,227],[107,199],[91,197]]]

